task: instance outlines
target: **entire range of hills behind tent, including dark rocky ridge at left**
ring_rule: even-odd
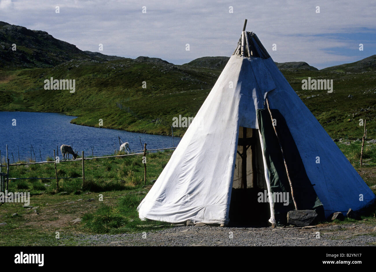
[[[11,50],[13,43],[17,51]],[[47,32],[0,22],[0,59],[2,111],[62,112],[78,116],[75,124],[98,127],[103,119],[106,128],[171,134],[172,118],[196,115],[229,58],[174,65],[158,58],[106,56]],[[277,66],[332,138],[361,138],[360,118],[368,120],[368,138],[376,137],[376,55],[320,71],[305,62]],[[74,79],[76,91],[44,90],[51,77]],[[333,79],[334,92],[302,90],[308,77]],[[174,132],[181,136],[185,130]]]

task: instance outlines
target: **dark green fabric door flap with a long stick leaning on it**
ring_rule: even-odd
[[[319,216],[322,217],[324,213],[323,204],[318,199],[311,181],[309,181],[299,150],[287,127],[285,118],[276,109],[271,109],[271,114],[273,119],[276,119],[276,130],[284,151],[297,208],[298,210],[316,210]],[[271,192],[289,193],[288,205],[285,205],[283,202],[274,203],[276,223],[286,224],[287,212],[295,210],[295,206],[291,196],[290,183],[287,178],[282,152],[268,109],[258,109],[257,118],[264,142],[264,155],[268,166]]]

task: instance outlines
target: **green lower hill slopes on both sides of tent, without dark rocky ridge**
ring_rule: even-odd
[[[54,68],[0,71],[0,110],[64,112],[73,123],[151,134],[171,134],[172,118],[195,116],[221,70],[137,62],[72,60]],[[376,73],[283,71],[284,76],[332,138],[361,138],[359,119],[367,119],[368,138],[376,137]],[[44,90],[43,80],[76,79],[76,92]],[[302,79],[333,79],[334,91],[302,90]],[[142,82],[147,88],[142,88]],[[202,89],[203,88],[203,89]],[[353,98],[348,98],[348,95]],[[312,97],[315,95],[315,97]],[[310,98],[307,98],[310,97]],[[129,99],[125,101],[125,99]],[[120,102],[134,114],[116,107]],[[162,122],[152,122],[159,118]],[[176,128],[181,136],[186,128]]]

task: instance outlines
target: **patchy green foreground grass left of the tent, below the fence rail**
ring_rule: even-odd
[[[23,208],[23,203],[0,204],[0,222],[7,223],[1,226],[0,246],[90,245],[90,241],[79,241],[74,234],[77,231],[124,233],[160,229],[158,226],[166,223],[141,221],[136,207],[150,189],[150,181],[158,178],[169,160],[169,152],[171,151],[147,155],[146,186],[141,156],[86,160],[85,183],[82,183],[82,179],[59,180],[59,191],[68,192],[68,195],[61,195],[56,191],[55,179],[10,182],[9,191],[30,192],[30,205],[38,208],[27,210]],[[80,173],[81,164],[65,162],[59,163],[57,168],[61,175],[72,175]],[[53,175],[53,163],[10,168],[10,177]],[[102,201],[99,196],[103,197]],[[18,216],[11,216],[13,213],[18,213]],[[71,221],[75,218],[82,218],[82,223],[73,225]],[[59,231],[61,239],[55,238],[56,231]]]

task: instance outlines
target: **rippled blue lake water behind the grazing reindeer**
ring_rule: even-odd
[[[91,156],[91,147],[94,146],[94,156],[113,154],[119,150],[120,136],[123,142],[129,142],[133,152],[143,149],[144,143],[147,149],[168,148],[173,146],[171,136],[150,135],[145,133],[134,133],[124,130],[109,128],[86,127],[71,124],[70,121],[76,117],[60,113],[44,112],[0,112],[0,150],[2,157],[6,156],[6,144],[8,144],[9,161],[18,161],[17,146],[20,150],[20,159],[30,159],[30,145],[33,145],[36,161],[39,162],[39,150],[42,160],[47,156],[53,157],[53,150],[62,144],[72,145],[73,149],[85,152],[85,156]],[[16,119],[16,126],[12,126],[12,119]],[[142,148],[140,144],[140,137]],[[174,137],[174,145],[179,143],[180,138]],[[34,153],[32,159],[34,160]],[[69,156],[71,159],[71,155]]]

